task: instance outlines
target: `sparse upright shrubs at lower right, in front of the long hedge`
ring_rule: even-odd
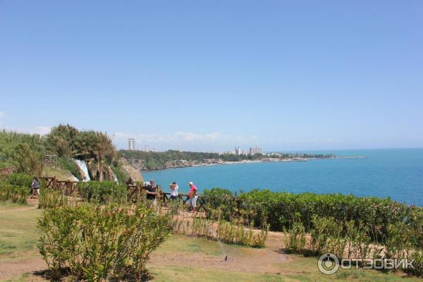
[[[377,238],[370,238],[367,233],[376,234],[371,227],[354,221],[335,221],[333,217],[313,216],[313,227],[307,240],[305,226],[294,221],[289,230],[284,231],[283,243],[287,252],[303,255],[332,253],[339,259],[407,259],[414,268],[402,269],[414,276],[423,276],[423,252],[415,245],[414,231],[405,223],[393,223],[388,226],[388,234],[383,245]],[[343,230],[348,232],[344,233]],[[396,271],[395,269],[391,269]]]

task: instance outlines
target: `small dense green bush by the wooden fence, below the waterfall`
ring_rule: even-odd
[[[82,200],[95,203],[127,202],[126,185],[115,181],[87,181],[77,184]]]

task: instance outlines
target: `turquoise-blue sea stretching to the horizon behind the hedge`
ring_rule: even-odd
[[[307,152],[309,153],[309,152]],[[353,194],[391,197],[423,207],[423,148],[319,151],[338,157],[290,163],[224,164],[144,171],[163,188],[176,181],[181,192],[194,182],[204,188],[228,188],[233,192],[252,188],[274,191]]]

